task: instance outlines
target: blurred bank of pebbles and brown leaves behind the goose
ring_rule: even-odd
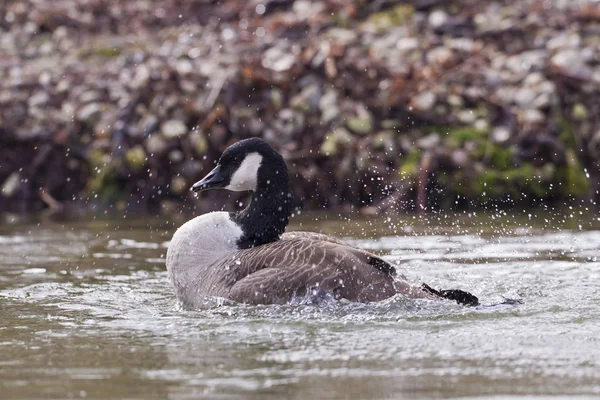
[[[305,209],[596,204],[599,92],[595,0],[3,0],[0,212],[180,208],[251,136]]]

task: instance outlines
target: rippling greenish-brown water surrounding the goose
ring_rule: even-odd
[[[600,396],[593,214],[317,217],[292,228],[346,237],[415,282],[524,304],[396,298],[184,311],[164,267],[181,219],[5,223],[0,397]]]

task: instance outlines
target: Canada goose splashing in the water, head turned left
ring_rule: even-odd
[[[214,298],[281,304],[311,293],[365,303],[401,293],[478,304],[460,290],[412,286],[387,261],[331,236],[284,233],[292,214],[288,170],[262,139],[229,146],[191,189],[214,188],[254,193],[244,210],[195,217],[173,235],[167,270],[184,307],[202,307]]]

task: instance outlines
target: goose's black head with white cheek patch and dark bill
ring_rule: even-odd
[[[234,192],[270,191],[288,186],[288,171],[283,157],[259,138],[241,140],[229,146],[217,166],[191,190],[227,189]]]

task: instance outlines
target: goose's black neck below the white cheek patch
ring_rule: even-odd
[[[231,213],[231,219],[243,231],[243,236],[237,243],[240,249],[279,240],[292,215],[292,195],[287,168],[262,172],[248,207],[240,212]]]

